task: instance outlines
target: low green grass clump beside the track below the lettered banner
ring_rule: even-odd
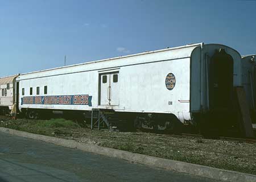
[[[41,121],[41,122],[37,122],[36,125],[38,127],[65,127],[65,128],[72,128],[72,129],[76,129],[79,128],[79,124],[71,121],[71,120],[66,120],[63,118],[57,118],[57,119],[50,119],[47,121]]]

